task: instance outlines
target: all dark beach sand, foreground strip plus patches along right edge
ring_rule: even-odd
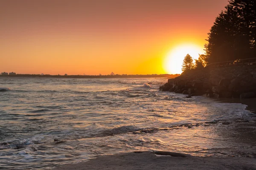
[[[256,99],[218,99],[218,102],[234,102],[247,105],[247,110],[255,113]],[[256,149],[256,114],[249,122],[241,122],[237,136],[241,141]],[[256,155],[250,157],[196,157],[181,153],[150,151],[119,153],[98,156],[78,164],[56,167],[53,170],[256,170]]]

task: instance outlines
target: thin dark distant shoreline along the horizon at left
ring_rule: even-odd
[[[180,74],[149,74],[149,75],[40,75],[40,74],[16,74],[16,75],[0,75],[0,77],[36,77],[36,78],[44,78],[44,77],[52,77],[52,78],[175,78],[180,76]]]

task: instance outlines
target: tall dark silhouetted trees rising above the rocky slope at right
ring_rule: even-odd
[[[256,1],[230,0],[218,14],[205,45],[205,61],[222,62],[256,56]]]

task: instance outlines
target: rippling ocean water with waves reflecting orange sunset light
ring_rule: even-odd
[[[51,169],[122,152],[251,156],[246,105],[159,91],[165,78],[0,78],[0,169]],[[239,121],[237,121],[239,120]]]

